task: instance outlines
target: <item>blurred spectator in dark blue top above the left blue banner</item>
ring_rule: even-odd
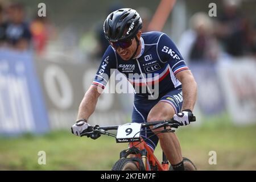
[[[24,22],[24,7],[20,3],[14,3],[7,8],[9,22],[6,27],[6,41],[9,46],[26,50],[30,46],[31,32]]]

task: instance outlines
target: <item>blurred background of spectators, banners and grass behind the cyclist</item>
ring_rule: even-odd
[[[143,32],[169,35],[196,78],[197,122],[176,131],[183,155],[199,170],[255,170],[254,0],[0,0],[0,169],[112,168],[126,143],[70,127],[108,47],[102,24],[123,7],[138,11]],[[130,122],[132,103],[133,94],[104,93],[89,122]]]

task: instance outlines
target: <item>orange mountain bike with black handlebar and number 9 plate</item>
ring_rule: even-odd
[[[192,119],[195,121],[195,117]],[[117,143],[127,142],[129,148],[120,152],[119,160],[114,164],[113,171],[172,171],[166,155],[163,152],[162,163],[154,155],[154,152],[147,145],[145,140],[140,136],[143,128],[154,126],[151,130],[162,128],[158,133],[173,133],[180,125],[174,119],[146,122],[146,123],[126,123],[125,125],[114,126],[93,126],[92,131],[81,133],[92,139],[97,139],[101,135],[114,137]],[[109,133],[109,130],[117,130],[117,134]],[[150,130],[150,129],[146,129]],[[151,131],[151,132],[152,132]],[[152,135],[151,135],[152,137]],[[185,171],[195,171],[195,165],[188,158],[183,158]]]

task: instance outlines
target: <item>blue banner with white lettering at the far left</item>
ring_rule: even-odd
[[[0,134],[48,130],[46,106],[31,53],[0,49]]]

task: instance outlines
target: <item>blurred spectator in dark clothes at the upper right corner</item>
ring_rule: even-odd
[[[224,51],[232,56],[242,56],[247,49],[248,23],[240,13],[240,0],[225,0],[218,18],[216,35]]]

